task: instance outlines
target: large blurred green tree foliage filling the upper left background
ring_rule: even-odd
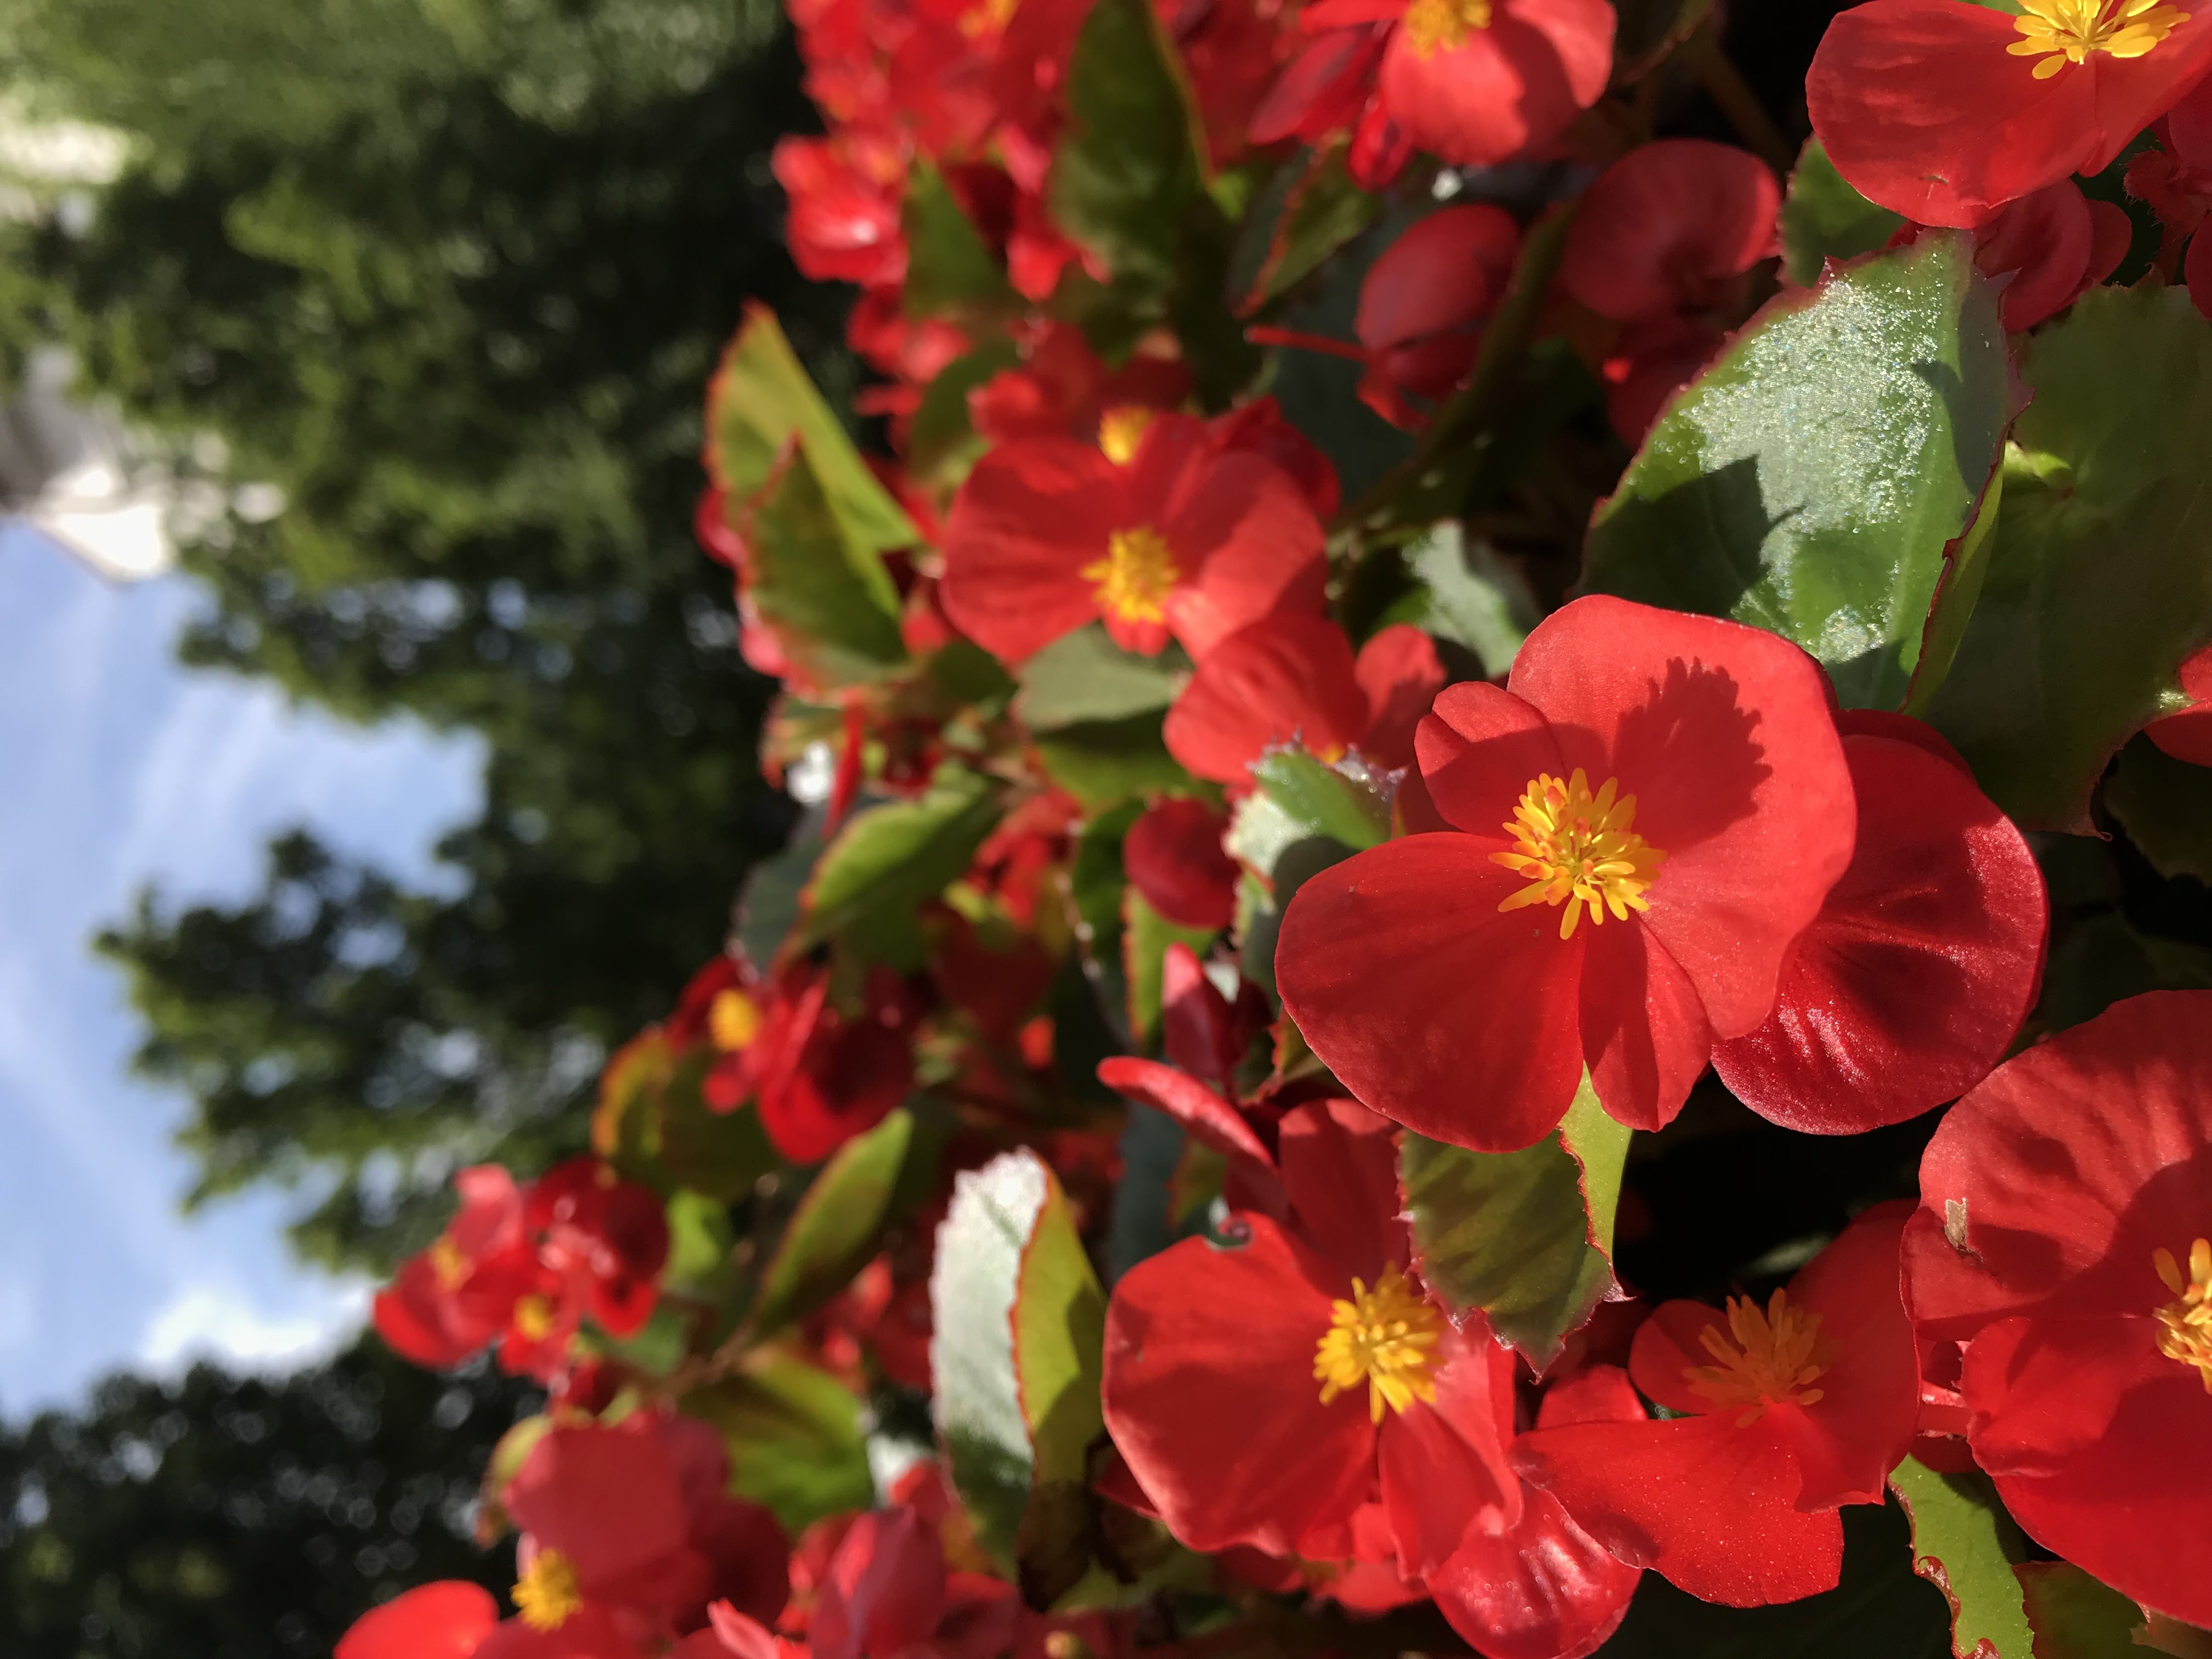
[[[748,296],[849,380],[781,248],[812,122],[774,0],[13,0],[33,108],[135,137],[0,232],[11,334],[173,442],[195,664],[484,743],[451,883],[292,836],[237,909],[102,938],[195,1115],[197,1199],[299,1186],[387,1261],[447,1172],[582,1137],[608,1044],[717,945],[785,810],[695,549],[699,407]],[[84,208],[91,206],[91,212]],[[274,489],[272,489],[274,487]],[[281,511],[279,511],[281,509]]]

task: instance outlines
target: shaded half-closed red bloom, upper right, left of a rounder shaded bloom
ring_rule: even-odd
[[[1520,226],[1504,208],[1475,201],[1416,219],[1360,281],[1352,319],[1367,354],[1360,400],[1416,425],[1407,394],[1436,400],[1464,380],[1517,257]]]

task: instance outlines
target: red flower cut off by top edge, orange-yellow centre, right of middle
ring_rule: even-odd
[[[1396,20],[1383,108],[1416,148],[1491,166],[1548,144],[1613,75],[1604,0],[1321,0],[1310,29]]]

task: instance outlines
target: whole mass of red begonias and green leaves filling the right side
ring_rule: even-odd
[[[792,2],[807,816],[378,1298],[549,1405],[338,1659],[2203,1652],[2212,18],[1708,13]]]

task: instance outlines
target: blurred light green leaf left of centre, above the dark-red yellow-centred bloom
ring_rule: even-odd
[[[991,779],[940,765],[916,801],[867,807],[838,830],[807,887],[810,942],[849,936],[872,960],[918,960],[916,909],[945,891],[998,825]]]

